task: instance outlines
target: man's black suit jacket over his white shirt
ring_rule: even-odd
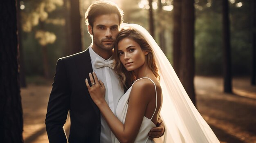
[[[85,85],[90,72],[89,50],[58,59],[45,119],[50,143],[67,143],[63,125],[68,111],[69,143],[99,143],[100,112]]]

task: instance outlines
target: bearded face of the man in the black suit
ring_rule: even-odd
[[[93,35],[93,48],[97,51],[110,51],[115,46],[115,40],[119,33],[119,19],[117,14],[99,15],[95,18],[88,31]]]

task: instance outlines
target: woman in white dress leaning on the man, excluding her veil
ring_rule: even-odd
[[[151,143],[148,132],[156,127],[162,105],[152,48],[137,31],[125,29],[117,36],[113,56],[120,86],[128,89],[117,104],[116,116],[104,98],[104,84],[98,82],[95,73],[90,74],[91,83],[95,83],[92,87],[86,81],[90,95],[115,134],[116,143]]]

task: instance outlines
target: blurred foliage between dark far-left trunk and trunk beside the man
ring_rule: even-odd
[[[22,46],[25,73],[27,76],[43,75],[42,48],[47,48],[50,77],[53,77],[58,58],[64,56],[65,50],[65,8],[63,0],[24,1],[22,10]],[[43,8],[42,8],[43,7]],[[43,22],[41,37],[36,38],[38,31],[42,31],[40,21]],[[50,33],[50,35],[44,35]],[[49,42],[49,37],[55,39]],[[42,42],[43,41],[43,42]],[[51,40],[50,40],[51,41]]]

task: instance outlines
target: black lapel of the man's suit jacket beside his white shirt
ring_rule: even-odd
[[[88,88],[85,85],[85,79],[87,78],[88,80],[90,80],[89,73],[92,73],[92,71],[93,71],[89,48],[87,50],[83,51],[83,53],[79,57],[79,61],[76,63],[79,64],[78,67],[81,67],[80,70],[78,70],[78,72],[79,72],[79,77],[83,78],[83,87],[85,88],[85,96],[88,96],[87,99],[89,99],[90,103],[92,104],[92,107],[95,110],[95,113],[97,114],[97,116],[100,117],[99,108],[93,102],[93,100],[90,97],[90,94],[88,92]]]

